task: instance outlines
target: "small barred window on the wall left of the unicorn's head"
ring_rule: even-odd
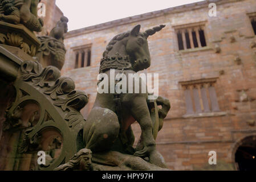
[[[91,66],[91,45],[72,48],[75,52],[75,69]]]

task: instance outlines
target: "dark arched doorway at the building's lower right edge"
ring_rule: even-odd
[[[256,171],[256,135],[243,138],[234,153],[239,171]]]

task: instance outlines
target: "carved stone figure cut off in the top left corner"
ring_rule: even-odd
[[[40,0],[1,0],[0,20],[8,23],[24,24],[29,30],[40,32],[43,20],[37,18]]]

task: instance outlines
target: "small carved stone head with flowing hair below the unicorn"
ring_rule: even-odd
[[[89,171],[91,169],[92,152],[87,148],[83,148],[75,154],[68,163],[60,165],[54,171]]]

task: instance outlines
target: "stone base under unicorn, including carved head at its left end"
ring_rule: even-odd
[[[92,154],[83,148],[72,156],[68,163],[62,164],[54,171],[168,171],[155,166],[138,156],[121,154],[117,151]]]

